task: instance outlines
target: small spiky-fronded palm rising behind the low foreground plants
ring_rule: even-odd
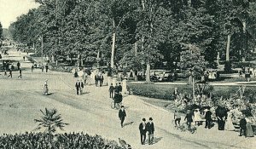
[[[36,129],[45,128],[45,132],[48,134],[48,141],[50,135],[55,133],[56,129],[61,129],[68,125],[68,123],[63,123],[63,119],[61,119],[61,114],[57,113],[56,109],[47,109],[45,108],[45,112],[40,110],[43,113],[41,119],[34,119],[36,123],[38,123],[38,127]]]

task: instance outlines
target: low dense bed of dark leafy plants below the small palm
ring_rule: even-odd
[[[48,135],[45,133],[25,133],[0,136],[0,148],[3,149],[120,149],[113,140],[105,140],[101,136],[91,136],[82,133],[65,133]]]

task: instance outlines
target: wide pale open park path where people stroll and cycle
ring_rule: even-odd
[[[22,65],[22,64],[21,64]],[[32,64],[30,64],[32,65]],[[180,132],[173,127],[172,112],[153,106],[136,95],[125,95],[124,106],[127,112],[125,127],[119,124],[118,111],[110,107],[108,86],[85,86],[84,95],[75,95],[71,73],[25,71],[22,79],[14,73],[13,78],[0,77],[0,133],[19,133],[31,131],[36,127],[33,119],[40,116],[39,109],[55,107],[64,119],[70,123],[65,132],[87,132],[90,135],[102,135],[110,140],[126,140],[136,149],[253,149],[254,138],[243,138],[238,133],[218,131],[200,127],[194,135]],[[49,92],[42,95],[44,80],[49,80]],[[142,118],[153,117],[156,143],[152,146],[140,145],[138,124]]]

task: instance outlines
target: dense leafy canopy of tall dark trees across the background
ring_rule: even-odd
[[[203,65],[214,67],[218,52],[223,60],[227,52],[241,60],[254,49],[253,0],[36,2],[41,3],[38,9],[21,15],[9,30],[15,41],[37,49],[43,36],[44,54],[56,60],[94,63],[98,56],[108,64],[113,57],[114,66],[137,70],[160,60],[172,68],[192,45],[206,60]],[[186,60],[195,66],[195,60]]]

